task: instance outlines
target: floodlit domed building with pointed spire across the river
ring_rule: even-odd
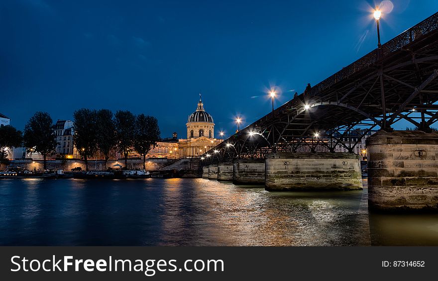
[[[215,138],[213,116],[204,109],[201,94],[198,107],[187,119],[187,139],[179,140],[179,156],[199,156],[220,143]]]

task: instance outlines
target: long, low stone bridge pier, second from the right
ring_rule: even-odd
[[[362,189],[359,156],[350,153],[271,153],[265,162],[265,189]]]

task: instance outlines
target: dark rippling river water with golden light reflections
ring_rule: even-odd
[[[438,245],[438,214],[369,213],[366,187],[10,179],[0,180],[0,245]]]

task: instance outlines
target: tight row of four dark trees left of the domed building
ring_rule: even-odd
[[[73,141],[84,158],[87,170],[88,158],[98,151],[105,155],[107,168],[109,153],[114,148],[123,154],[125,167],[129,153],[139,153],[143,156],[145,169],[146,154],[160,140],[158,120],[149,115],[134,115],[127,110],[118,110],[113,114],[108,109],[82,108],[73,113],[73,120]]]

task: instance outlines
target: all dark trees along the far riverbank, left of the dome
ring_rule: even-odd
[[[127,158],[133,150],[143,156],[143,169],[146,168],[146,154],[160,140],[158,120],[144,114],[134,115],[130,111],[117,111],[113,114],[108,109],[91,110],[82,108],[73,114],[73,143],[78,153],[84,158],[88,171],[88,158],[98,151],[105,155],[107,168],[109,153],[113,149]],[[6,159],[8,147],[27,148],[28,152],[39,152],[44,159],[46,169],[47,156],[54,152],[56,133],[53,120],[47,112],[36,112],[24,127],[24,134],[14,127],[0,127],[0,165]]]

